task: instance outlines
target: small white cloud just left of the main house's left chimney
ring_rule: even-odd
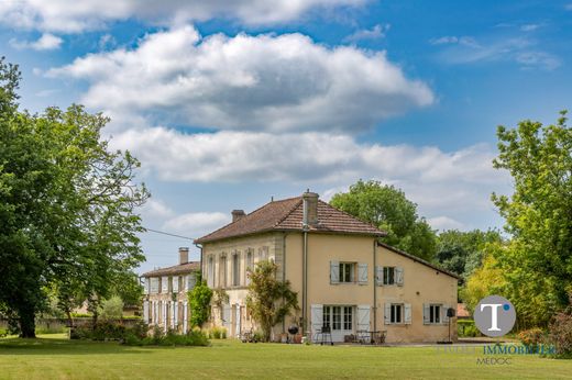
[[[182,214],[166,221],[163,228],[169,233],[188,237],[200,237],[230,223],[230,213],[195,212]]]

